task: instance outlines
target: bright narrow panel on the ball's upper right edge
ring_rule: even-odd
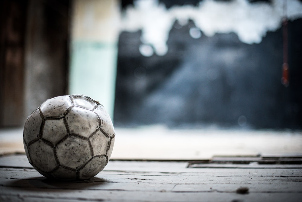
[[[105,108],[98,105],[94,110],[101,119],[101,129],[110,137],[114,135],[114,128],[109,114],[106,112]]]

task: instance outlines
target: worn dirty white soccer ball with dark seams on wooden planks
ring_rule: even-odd
[[[115,139],[104,106],[83,95],[46,100],[27,118],[23,132],[31,165],[47,178],[85,180],[108,163]]]

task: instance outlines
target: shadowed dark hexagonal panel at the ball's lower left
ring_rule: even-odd
[[[41,139],[28,147],[28,153],[31,158],[32,165],[39,171],[47,173],[57,166],[53,148]]]

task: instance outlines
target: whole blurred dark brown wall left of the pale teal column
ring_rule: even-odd
[[[3,0],[0,127],[23,126],[48,98],[64,95],[69,63],[69,0]]]

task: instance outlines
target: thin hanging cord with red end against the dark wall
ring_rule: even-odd
[[[287,19],[287,0],[283,1],[283,20],[282,20],[282,28],[283,28],[283,65],[282,65],[282,78],[281,83],[284,86],[289,85],[289,70],[288,70],[288,19]]]

